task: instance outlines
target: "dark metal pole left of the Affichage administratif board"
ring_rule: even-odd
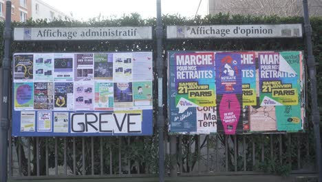
[[[3,32],[4,57],[2,61],[2,95],[0,123],[0,181],[7,181],[8,129],[9,129],[9,90],[10,90],[10,40],[11,40],[11,1],[6,2],[6,27]]]

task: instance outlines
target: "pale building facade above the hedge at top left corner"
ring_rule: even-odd
[[[65,19],[68,17],[63,12],[53,8],[41,0],[12,0],[11,20],[25,22],[28,19]],[[0,20],[6,19],[6,0],[0,0]]]

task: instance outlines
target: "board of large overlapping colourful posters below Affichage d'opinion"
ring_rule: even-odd
[[[169,132],[303,132],[301,51],[169,51]]]

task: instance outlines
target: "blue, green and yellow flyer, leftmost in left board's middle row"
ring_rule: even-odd
[[[14,110],[34,109],[34,83],[14,83]]]

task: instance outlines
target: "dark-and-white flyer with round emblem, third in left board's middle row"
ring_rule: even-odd
[[[55,83],[54,110],[74,110],[74,83]]]

